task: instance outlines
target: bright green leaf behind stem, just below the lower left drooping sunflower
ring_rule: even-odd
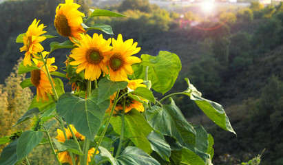
[[[64,85],[63,85],[63,82],[60,78],[53,78],[54,80],[54,83],[55,83],[55,89],[56,89],[56,92],[58,94],[58,96],[61,96],[63,93],[65,93],[64,91]],[[53,107],[55,107],[55,104],[54,104],[54,101],[52,99],[52,97],[48,94],[48,101],[46,102],[37,102],[36,101],[36,96],[34,96],[32,102],[30,103],[30,107],[28,107],[28,109],[32,109],[32,108],[38,108],[39,111],[43,111],[45,109],[51,109]]]

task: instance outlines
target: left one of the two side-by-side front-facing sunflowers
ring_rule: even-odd
[[[70,57],[75,61],[70,62],[70,65],[78,65],[76,73],[79,73],[85,69],[85,79],[97,80],[101,76],[101,70],[105,74],[109,74],[109,70],[106,66],[107,56],[112,50],[110,47],[111,39],[107,41],[103,39],[102,34],[94,33],[92,37],[88,34],[81,34],[81,40],[78,46],[72,50]]]

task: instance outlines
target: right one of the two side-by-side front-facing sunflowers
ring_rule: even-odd
[[[123,42],[122,35],[118,35],[118,39],[112,40],[113,50],[109,57],[108,65],[110,69],[110,79],[113,81],[123,81],[127,79],[127,74],[133,74],[133,63],[140,63],[140,58],[132,56],[140,51],[140,47],[136,47],[138,43],[133,44],[133,39]]]

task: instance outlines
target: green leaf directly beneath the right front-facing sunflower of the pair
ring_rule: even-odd
[[[102,102],[112,96],[118,89],[125,89],[128,83],[125,81],[111,81],[103,78],[98,82],[98,102]]]

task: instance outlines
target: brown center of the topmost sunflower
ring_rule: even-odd
[[[59,14],[55,17],[54,25],[57,32],[61,36],[71,36],[71,28],[70,25],[67,23],[67,18],[63,14]]]

